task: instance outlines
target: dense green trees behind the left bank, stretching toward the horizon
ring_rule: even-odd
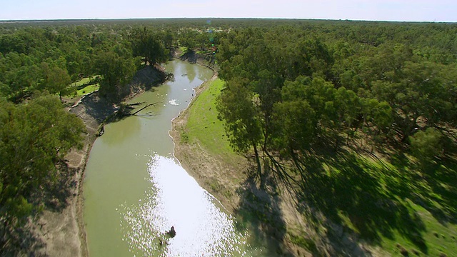
[[[87,25],[4,29],[0,94],[13,101],[21,101],[34,90],[71,95],[75,91],[71,82],[95,74],[101,75],[101,91],[111,91],[116,84],[129,81],[140,67],[141,57],[134,56],[146,57],[149,65],[168,58],[166,34],[137,31],[123,28],[114,32],[111,27]],[[147,48],[152,46],[152,51]]]

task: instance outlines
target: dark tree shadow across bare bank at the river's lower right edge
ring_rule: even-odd
[[[267,183],[268,191],[259,188],[255,176],[249,176],[237,190],[241,198],[235,210],[237,226],[253,234],[255,245],[263,246],[262,256],[293,256],[282,246],[286,236],[286,223],[279,207],[276,183]]]

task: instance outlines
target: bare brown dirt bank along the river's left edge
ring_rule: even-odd
[[[68,101],[67,104],[71,104]],[[117,111],[106,99],[95,92],[79,99],[69,108],[86,125],[84,146],[81,150],[71,149],[65,156],[65,165],[59,169],[63,179],[61,190],[66,196],[47,206],[36,218],[30,220],[26,229],[34,238],[32,246],[24,255],[29,256],[88,256],[84,233],[82,185],[84,168],[99,126]]]

